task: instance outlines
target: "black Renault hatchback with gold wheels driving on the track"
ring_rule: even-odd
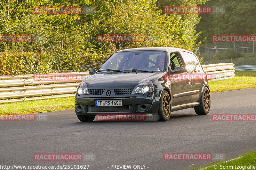
[[[120,50],[77,88],[75,111],[80,121],[97,114],[150,114],[170,119],[171,111],[210,110],[207,75],[193,52],[171,47]]]

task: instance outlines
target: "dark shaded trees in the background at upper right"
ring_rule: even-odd
[[[212,35],[252,35],[256,33],[256,1],[254,0],[211,0],[204,6],[224,6],[224,14],[200,14],[201,22],[196,30],[202,32],[199,40]]]

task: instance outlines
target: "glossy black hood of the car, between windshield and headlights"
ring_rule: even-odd
[[[158,73],[97,73],[84,80],[88,89],[133,89],[142,81],[158,79]]]

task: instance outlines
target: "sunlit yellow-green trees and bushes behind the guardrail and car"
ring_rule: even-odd
[[[195,6],[206,0],[7,0],[0,6],[0,34],[32,34],[43,41],[0,42],[4,52],[51,56],[52,70],[99,67],[117,50],[172,46],[195,51],[198,14],[164,14],[163,6]],[[36,6],[91,6],[88,14],[34,14]],[[97,42],[99,34],[143,34],[145,42]],[[151,39],[150,39],[151,38]],[[47,55],[46,55],[47,54]],[[14,57],[15,58],[15,57]],[[48,58],[49,59],[49,58]],[[47,59],[47,60],[48,60]],[[39,69],[40,70],[40,69]],[[44,72],[41,69],[39,72]],[[49,70],[47,69],[49,72]],[[23,73],[33,73],[26,70]]]

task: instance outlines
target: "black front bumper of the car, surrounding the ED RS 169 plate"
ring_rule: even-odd
[[[115,95],[111,90],[110,96],[106,96],[107,90],[103,95],[78,95],[75,98],[76,115],[97,115],[97,114],[158,114],[159,99],[162,90],[128,94]],[[122,100],[122,107],[118,106],[94,106],[95,100]]]

